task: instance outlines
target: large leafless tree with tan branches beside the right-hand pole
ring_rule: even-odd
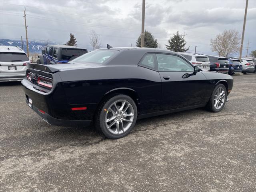
[[[211,50],[218,52],[219,56],[230,56],[230,54],[239,52],[240,37],[239,32],[234,29],[224,30],[218,34],[215,39],[211,39]]]

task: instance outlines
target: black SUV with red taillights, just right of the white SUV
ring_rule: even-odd
[[[210,61],[210,71],[215,71],[218,73],[228,73],[229,64],[228,58],[222,56],[206,55]]]

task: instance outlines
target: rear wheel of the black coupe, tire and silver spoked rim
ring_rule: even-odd
[[[108,97],[99,108],[96,129],[107,138],[122,138],[134,128],[137,116],[136,103],[129,96],[118,94]]]

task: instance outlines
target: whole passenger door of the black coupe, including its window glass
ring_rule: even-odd
[[[194,72],[194,67],[188,61],[174,54],[156,54],[156,60],[162,80],[162,110],[196,106],[204,102],[208,81],[203,72],[182,78],[184,74]]]

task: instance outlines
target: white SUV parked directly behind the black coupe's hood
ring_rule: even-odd
[[[178,52],[178,54],[184,56],[194,66],[199,66],[202,70],[210,71],[210,61],[208,56],[197,53]]]

